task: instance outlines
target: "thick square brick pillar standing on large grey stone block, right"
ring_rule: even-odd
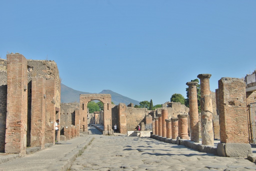
[[[244,81],[239,78],[221,78],[218,93],[220,142],[249,143]]]

